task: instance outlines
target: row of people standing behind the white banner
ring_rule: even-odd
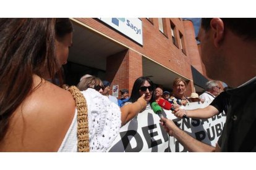
[[[88,76],[88,75],[87,75]],[[169,91],[163,91],[163,87],[155,87],[155,84],[150,80],[150,78],[140,77],[137,80],[135,80],[134,88],[135,87],[141,87],[140,89],[136,89],[136,92],[132,92],[131,98],[129,97],[129,90],[128,89],[121,89],[119,92],[121,94],[121,98],[117,99],[116,97],[109,95],[111,83],[109,81],[101,81],[100,78],[96,78],[95,76],[90,76],[88,78],[84,78],[85,76],[82,76],[79,84],[77,84],[77,87],[80,91],[85,91],[88,87],[91,87],[92,85],[88,86],[89,82],[92,82],[90,84],[95,84],[94,89],[102,95],[106,95],[111,102],[116,103],[119,107],[122,107],[126,105],[129,102],[132,102],[134,100],[138,99],[138,96],[140,92],[145,92],[145,97],[148,97],[151,102],[158,102],[160,99],[167,100],[168,102],[172,103],[174,108],[179,108],[181,106],[186,106],[187,103],[190,102],[201,102],[203,103],[205,100],[213,100],[216,96],[218,96],[222,91],[220,87],[220,83],[218,81],[208,81],[205,86],[206,90],[202,95],[198,95],[196,92],[192,92],[189,97],[186,97],[184,94],[186,92],[187,83],[182,78],[176,78],[173,81],[173,91],[172,93]],[[94,79],[92,81],[92,79]],[[145,79],[140,83],[136,83],[140,79]],[[96,83],[97,82],[97,83]],[[143,89],[143,83],[150,83],[149,89]],[[146,85],[145,85],[146,87]],[[216,88],[218,87],[218,88]],[[65,88],[65,87],[64,87]],[[92,87],[91,87],[92,88]],[[207,96],[208,97],[205,97]],[[141,96],[141,94],[140,94]],[[212,99],[210,98],[212,97]],[[134,100],[133,100],[134,99]],[[147,100],[147,99],[146,99]],[[148,107],[150,106],[149,100],[147,101]]]

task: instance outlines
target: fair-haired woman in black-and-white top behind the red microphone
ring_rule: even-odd
[[[187,83],[182,78],[176,78],[173,81],[173,95],[171,95],[171,103],[173,103],[174,108],[180,107],[182,105],[186,106],[189,99],[184,95],[186,92]]]

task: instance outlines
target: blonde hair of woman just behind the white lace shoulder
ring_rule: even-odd
[[[80,91],[85,91],[88,89],[88,86],[103,86],[103,83],[101,81],[100,78],[97,78],[95,76],[90,76],[88,78],[83,78],[79,84],[77,84],[77,88],[80,90]]]

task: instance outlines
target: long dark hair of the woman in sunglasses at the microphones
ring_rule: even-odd
[[[140,86],[142,86],[145,81],[148,81],[148,83],[150,84],[151,87],[153,87],[153,89],[155,89],[155,84],[153,83],[153,81],[151,81],[150,78],[147,77],[139,77],[135,80],[134,82],[134,86],[132,87],[132,94],[130,94],[130,99],[128,100],[128,102],[136,102],[139,98],[140,98]],[[152,94],[152,97],[150,99],[150,103],[152,103],[154,101],[154,95]]]

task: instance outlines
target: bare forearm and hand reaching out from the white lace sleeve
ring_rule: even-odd
[[[129,105],[124,105],[120,108],[121,110],[121,121],[122,126],[130,121],[134,116],[136,116],[143,108],[147,106],[147,101],[145,100],[145,94],[143,94],[137,102],[130,103]]]

